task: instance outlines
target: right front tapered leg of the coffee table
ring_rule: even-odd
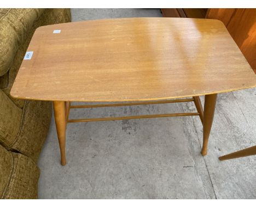
[[[217,94],[205,95],[205,108],[203,109],[203,146],[201,154],[207,154],[208,138],[210,136]]]

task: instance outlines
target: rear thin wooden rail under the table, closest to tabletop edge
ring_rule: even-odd
[[[163,101],[148,101],[148,102],[129,102],[129,103],[113,103],[113,104],[101,104],[101,105],[78,105],[70,106],[70,108],[98,108],[98,107],[114,107],[114,106],[137,106],[137,105],[152,105],[162,103],[176,103],[176,102],[192,102],[191,99],[177,99],[177,100],[163,100]]]

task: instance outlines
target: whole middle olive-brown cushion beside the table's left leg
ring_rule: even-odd
[[[51,102],[26,100],[20,109],[2,90],[0,100],[0,144],[37,161],[50,126]]]

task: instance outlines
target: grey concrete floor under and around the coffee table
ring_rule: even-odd
[[[72,20],[161,16],[159,9],[72,9]],[[203,102],[203,97],[201,97]],[[256,156],[218,157],[256,144],[256,89],[218,96],[202,157],[198,117],[74,123],[60,165],[52,119],[38,166],[41,199],[255,199]],[[71,118],[195,111],[193,103],[72,109]]]

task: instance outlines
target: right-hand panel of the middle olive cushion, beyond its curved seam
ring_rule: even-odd
[[[5,148],[18,151],[37,162],[51,123],[52,104],[48,101],[26,100],[22,110],[18,136]]]

